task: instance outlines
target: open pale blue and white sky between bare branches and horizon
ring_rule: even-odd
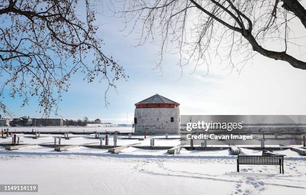
[[[81,74],[74,75],[59,103],[61,117],[87,116],[104,122],[131,123],[134,103],[156,93],[179,102],[180,114],[306,114],[306,70],[255,55],[240,74],[229,73],[225,64],[212,60],[207,75],[205,67],[190,74],[190,64],[180,77],[181,69],[176,65],[179,56],[167,52],[161,75],[152,69],[158,59],[158,45],[148,42],[135,47],[136,35],[124,36],[120,18],[99,15],[97,19],[103,23],[98,31],[104,39],[102,49],[124,67],[129,78],[119,80],[116,91],[110,89],[110,104],[105,107],[105,83],[87,83]],[[16,116],[41,117],[36,99],[30,99],[29,105],[22,108],[18,98],[5,98],[4,103]]]

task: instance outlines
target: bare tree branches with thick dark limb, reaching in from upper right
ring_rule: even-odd
[[[163,53],[174,49],[179,65],[192,61],[194,69],[218,58],[239,72],[258,53],[306,69],[305,39],[294,31],[299,26],[306,32],[306,10],[298,0],[123,1],[116,13],[128,34],[141,26],[137,45],[160,41],[158,67]]]

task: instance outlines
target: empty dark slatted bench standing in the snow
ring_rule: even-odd
[[[258,164],[258,165],[279,165],[279,173],[283,173],[283,156],[281,155],[238,155],[237,172],[239,172],[239,164]]]

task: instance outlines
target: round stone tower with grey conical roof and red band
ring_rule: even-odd
[[[156,93],[135,106],[135,133],[179,133],[179,103]]]

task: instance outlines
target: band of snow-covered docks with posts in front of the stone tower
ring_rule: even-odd
[[[44,134],[43,136],[39,136],[39,139],[32,139],[31,136],[27,134],[18,134],[20,138],[19,144],[12,144],[11,141],[7,141],[7,139],[0,138],[0,145],[11,146],[14,148],[12,152],[26,152],[28,153],[36,153],[42,152],[44,153],[46,150],[44,147],[53,147],[53,151],[60,152],[70,152],[78,153],[86,148],[86,152],[88,154],[94,153],[108,153],[108,149],[110,149],[111,153],[119,153],[119,154],[132,154],[132,155],[141,155],[143,151],[146,155],[154,155],[156,153],[160,153],[162,155],[176,155],[176,156],[184,156],[186,151],[188,151],[188,155],[192,153],[192,155],[201,155],[203,153],[218,153],[218,151],[226,151],[229,155],[237,155],[242,154],[242,149],[249,149],[253,151],[258,151],[258,154],[261,155],[262,150],[271,150],[271,151],[281,151],[281,150],[291,150],[292,152],[298,154],[299,156],[306,155],[305,148],[302,148],[302,145],[264,145],[261,147],[260,145],[181,145],[179,135],[168,135],[168,139],[165,139],[164,135],[155,135],[155,136],[147,136],[148,138],[143,138],[141,135],[133,135],[132,138],[135,139],[125,139],[126,137],[131,138],[130,135],[118,135],[117,142],[114,144],[113,135],[108,135],[107,144],[105,137],[98,137],[99,142],[93,142],[92,137],[95,137],[95,134],[89,135],[79,135],[79,134],[68,134],[65,133],[64,137],[61,134]],[[63,139],[65,137],[69,137],[70,139]],[[54,142],[54,138],[58,140],[58,143]],[[61,138],[61,139],[60,139]],[[143,138],[143,140],[139,140],[139,138]],[[60,139],[60,142],[59,142]],[[96,139],[95,139],[96,140]],[[152,142],[152,140],[154,140]],[[135,144],[139,143],[139,144]],[[36,145],[35,149],[30,149]],[[205,145],[205,144],[204,144]],[[117,147],[117,149],[114,149]],[[116,150],[113,151],[112,150]],[[0,150],[0,153],[5,153],[5,150]]]

